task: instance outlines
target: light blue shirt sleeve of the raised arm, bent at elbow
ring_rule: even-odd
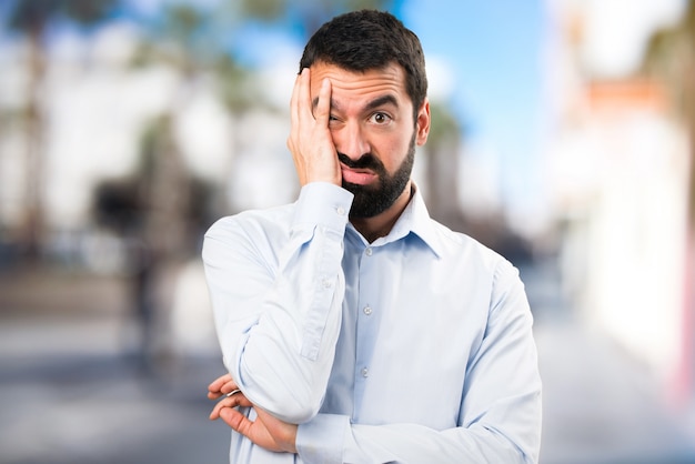
[[[311,183],[290,230],[232,219],[205,234],[202,255],[224,364],[253,404],[290,423],[314,416],[325,393],[351,202],[336,185]]]

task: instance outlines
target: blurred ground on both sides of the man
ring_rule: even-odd
[[[541,463],[695,463],[692,402],[676,410],[642,364],[577,324],[552,269],[522,276],[544,381]],[[142,359],[127,295],[113,279],[0,275],[0,464],[228,462],[205,399],[219,355]]]

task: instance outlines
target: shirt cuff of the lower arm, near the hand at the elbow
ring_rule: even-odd
[[[346,415],[318,414],[309,422],[299,425],[296,451],[306,464],[342,464],[343,442],[350,428]]]

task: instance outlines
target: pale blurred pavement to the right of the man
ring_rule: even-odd
[[[615,341],[577,322],[552,263],[522,268],[543,379],[544,464],[695,463],[695,411]]]

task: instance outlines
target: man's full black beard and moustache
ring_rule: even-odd
[[[370,169],[377,174],[375,185],[357,185],[343,181],[343,189],[354,194],[350,218],[373,218],[391,208],[407,185],[415,161],[415,133],[411,138],[405,159],[393,174],[389,174],[384,164],[372,153],[365,153],[356,161],[338,153],[338,159],[348,168]]]

